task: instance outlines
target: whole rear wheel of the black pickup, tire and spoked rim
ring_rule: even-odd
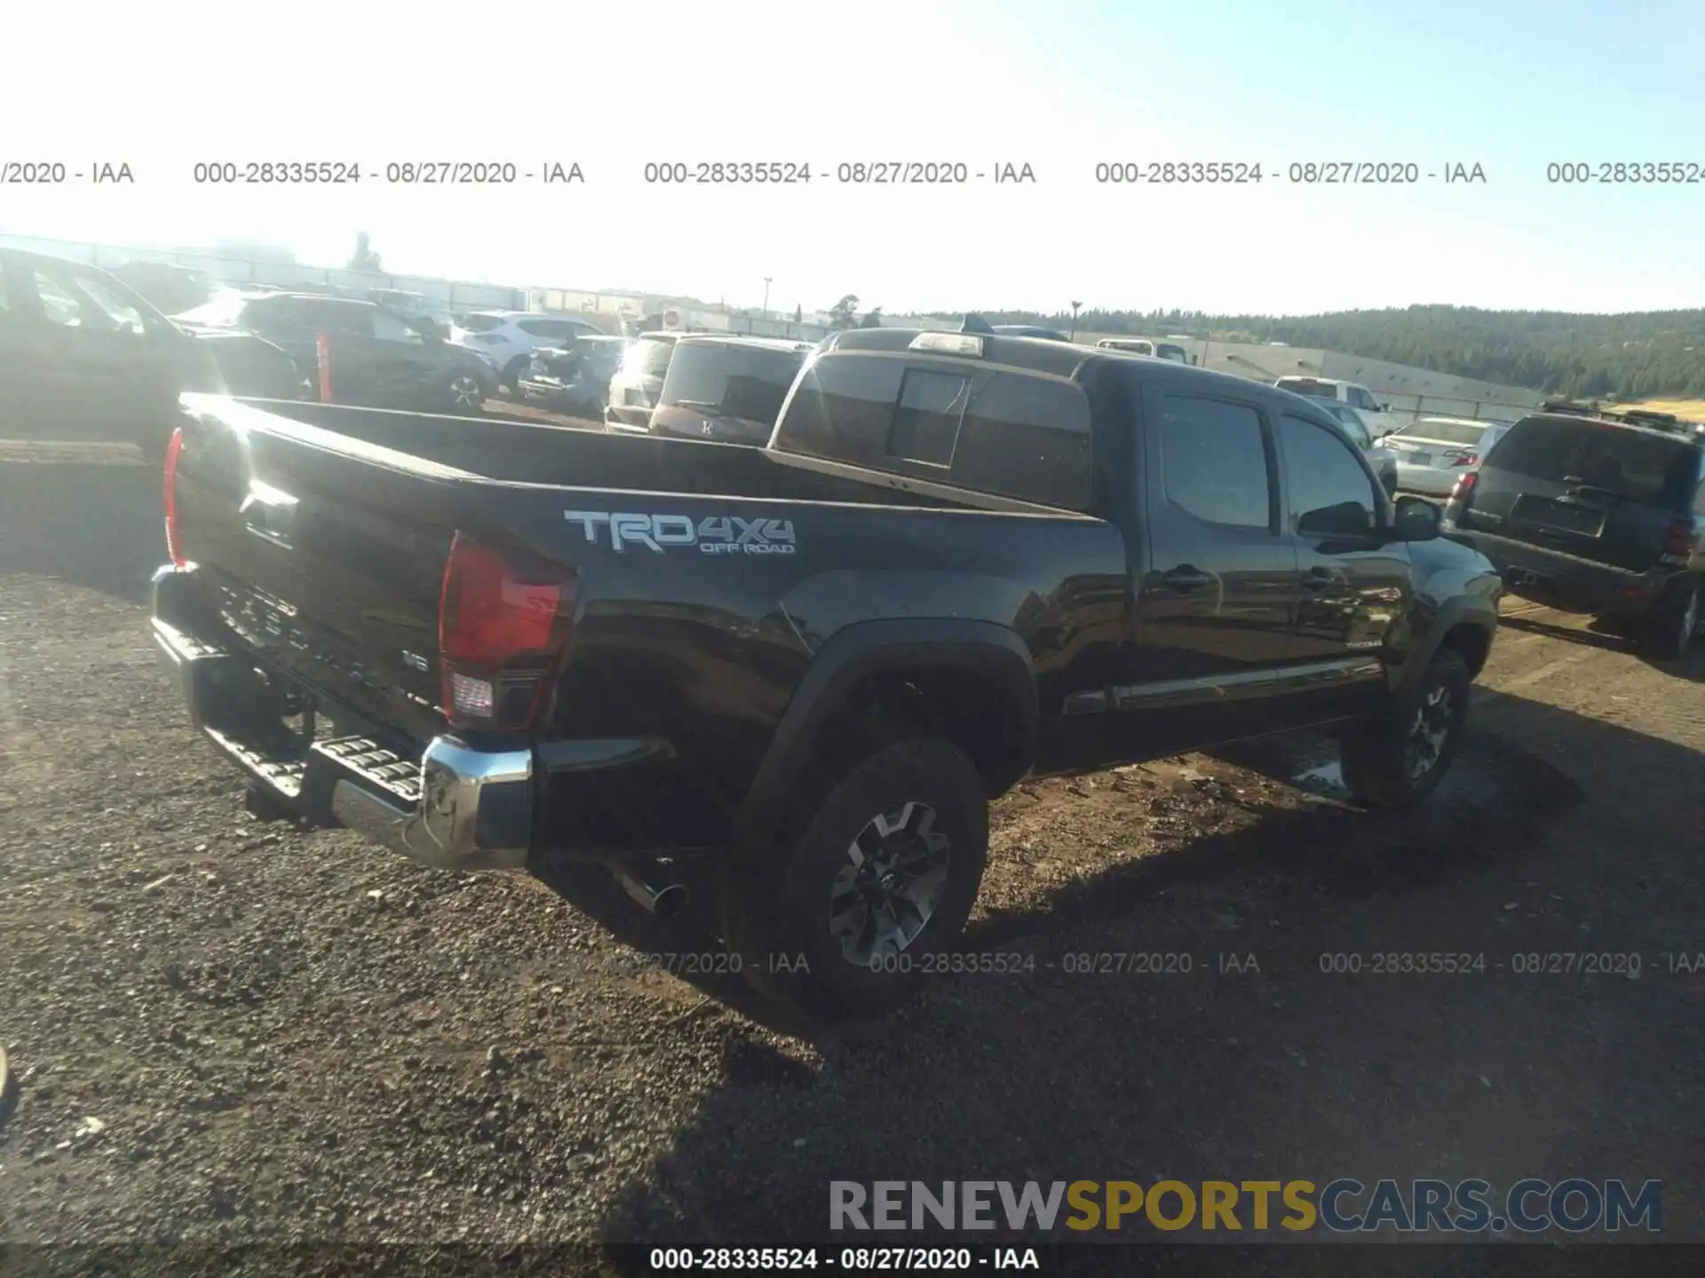
[[[832,1017],[907,1004],[951,951],[989,852],[982,777],[912,738],[858,763],[723,878],[723,937],[764,993]]]

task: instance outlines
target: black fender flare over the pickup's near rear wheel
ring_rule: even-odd
[[[846,704],[863,678],[885,670],[955,668],[984,671],[1013,699],[1018,712],[1018,767],[1004,786],[1030,770],[1037,755],[1040,702],[1030,649],[997,622],[970,619],[892,619],[854,622],[818,649],[795,688],[742,804],[742,828],[774,818],[810,758],[817,731]],[[1004,789],[1003,786],[1003,789]]]

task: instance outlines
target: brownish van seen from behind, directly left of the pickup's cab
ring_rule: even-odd
[[[651,435],[767,443],[813,349],[779,337],[682,337],[651,412]]]

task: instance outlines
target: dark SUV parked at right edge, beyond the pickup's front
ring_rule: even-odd
[[[1635,624],[1679,658],[1700,625],[1702,458],[1674,417],[1548,404],[1458,481],[1444,528],[1511,591]]]

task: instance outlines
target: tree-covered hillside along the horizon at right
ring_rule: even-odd
[[[977,312],[992,324],[1066,329],[1067,312]],[[1405,307],[1325,315],[1084,310],[1078,332],[1316,346],[1570,399],[1705,397],[1705,310],[1577,315],[1562,310]]]

